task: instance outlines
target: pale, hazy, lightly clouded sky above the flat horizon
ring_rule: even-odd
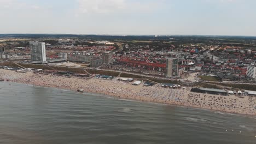
[[[0,33],[256,36],[255,0],[0,0]]]

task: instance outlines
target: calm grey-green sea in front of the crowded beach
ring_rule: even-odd
[[[0,143],[256,143],[256,117],[0,82]]]

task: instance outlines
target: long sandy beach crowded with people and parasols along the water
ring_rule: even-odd
[[[198,107],[202,109],[217,110],[229,113],[256,115],[256,97],[238,98],[235,95],[222,96],[201,93],[191,93],[190,87],[185,89],[168,89],[160,85],[151,87],[131,85],[132,82],[79,79],[78,77],[65,77],[56,75],[43,75],[28,73],[16,73],[11,70],[0,69],[0,79],[25,83],[34,86],[54,87],[60,89],[84,89],[86,92],[101,93],[113,97],[148,101],[152,103],[182,105]]]

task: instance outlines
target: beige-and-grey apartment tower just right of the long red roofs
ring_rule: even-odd
[[[179,59],[167,58],[166,77],[178,76]]]

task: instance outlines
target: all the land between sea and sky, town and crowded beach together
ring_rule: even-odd
[[[23,37],[0,38],[0,80],[256,115],[255,39]]]

